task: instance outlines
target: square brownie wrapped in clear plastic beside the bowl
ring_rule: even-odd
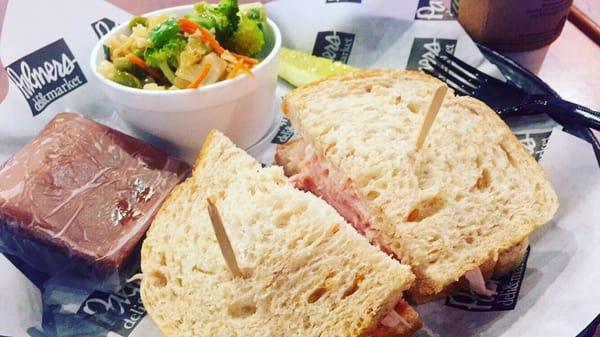
[[[118,270],[187,163],[73,113],[58,114],[0,167],[0,249],[52,274]]]

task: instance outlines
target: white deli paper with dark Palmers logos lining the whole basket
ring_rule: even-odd
[[[440,0],[281,0],[267,9],[287,47],[361,68],[399,69],[426,69],[428,60],[445,50],[502,78]],[[99,36],[130,17],[102,1],[8,2],[0,41],[9,75],[0,79],[9,85],[7,92],[0,90],[0,97],[6,94],[0,98],[0,162],[60,111],[77,111],[131,133],[99,94],[88,65]],[[43,29],[33,29],[31,22]],[[46,62],[52,76],[32,82],[31,70]],[[62,62],[65,66],[57,65]],[[289,90],[281,82],[277,96]],[[508,122],[530,153],[541,158],[561,208],[533,234],[523,264],[493,280],[497,296],[463,292],[419,305],[424,328],[416,336],[594,336],[600,321],[600,230],[595,228],[600,173],[592,149],[559,129],[552,132],[556,125],[543,116]],[[252,154],[270,164],[275,145],[292,137],[289,121],[282,119],[277,135]],[[116,292],[72,287],[10,255],[0,256],[0,270],[0,335],[160,336],[146,315],[137,281]]]

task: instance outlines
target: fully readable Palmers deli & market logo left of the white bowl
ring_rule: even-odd
[[[34,116],[50,103],[87,83],[64,39],[59,39],[6,67]]]

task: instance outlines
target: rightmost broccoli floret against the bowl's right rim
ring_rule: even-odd
[[[233,52],[254,56],[265,45],[265,36],[260,29],[260,21],[251,20],[246,16],[240,18],[238,29],[225,46]]]

